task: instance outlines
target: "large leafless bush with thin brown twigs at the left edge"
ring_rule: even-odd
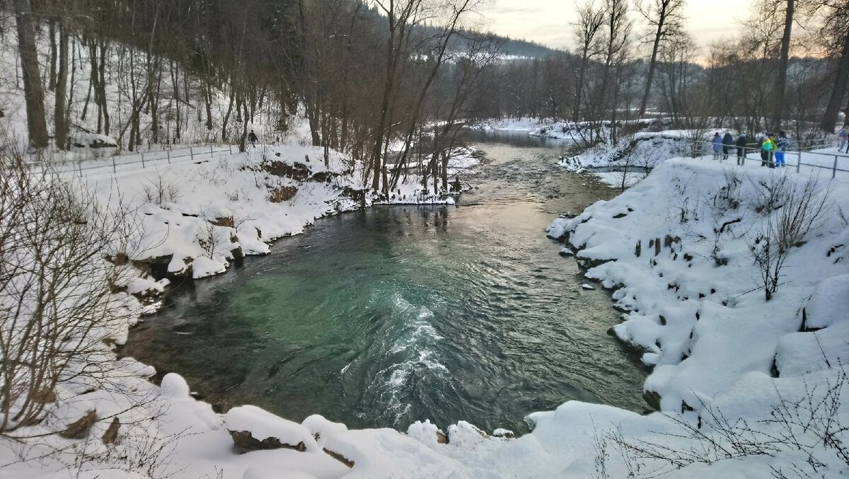
[[[0,431],[41,420],[60,380],[85,390],[114,365],[103,341],[132,312],[104,254],[126,262],[128,217],[0,157]]]

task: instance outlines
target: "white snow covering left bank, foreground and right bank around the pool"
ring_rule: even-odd
[[[229,215],[238,224],[211,230],[222,233],[220,251],[226,259],[237,243],[245,252],[267,252],[264,240],[295,234],[315,217],[351,205],[339,192],[355,180],[280,177],[260,166],[261,151],[159,172],[166,184],[177,185],[179,194],[156,204],[147,201],[144,191],[151,179],[158,185],[156,172],[126,172],[114,179],[89,175],[87,183],[104,197],[117,184],[131,203],[144,198],[146,234],[162,234],[166,223],[174,233],[172,239],[169,235],[151,245],[148,254],[194,257],[195,268],[197,258],[207,257],[198,240],[211,217]],[[318,150],[298,147],[265,153],[288,166],[303,155],[319,157]],[[344,168],[344,157],[332,160],[331,172]],[[324,172],[323,166],[311,166],[312,175]],[[0,465],[6,465],[4,474],[22,479],[66,477],[66,467],[82,469],[81,477],[133,479],[168,474],[236,479],[622,477],[629,471],[636,471],[635,476],[668,471],[671,477],[771,477],[770,468],[811,471],[810,464],[818,475],[836,476],[847,467],[837,447],[849,440],[846,431],[834,431],[849,424],[846,402],[835,401],[845,386],[849,357],[849,188],[839,179],[821,180],[820,191],[830,185],[831,210],[804,244],[793,246],[779,290],[772,301],[764,301],[749,248],[768,217],[757,207],[763,185],[782,173],[666,161],[616,199],[600,201],[549,228],[554,237],[569,232],[579,261],[603,262],[589,269],[588,277],[617,288],[614,299],[627,313],[616,335],[643,350],[644,362],[655,366],[645,387],[664,414],[641,416],[570,402],[531,414],[536,427],[524,437],[508,431],[487,434],[464,422],[437,426],[425,421],[406,433],[349,431],[318,416],[299,425],[252,407],[216,414],[190,396],[179,376],[166,375],[155,386],[146,379],[151,368],[124,358],[113,369],[110,387],[59,391],[48,420],[17,432],[48,436],[36,442],[3,440]],[[803,178],[790,177],[793,184]],[[730,183],[734,186],[727,188]],[[278,204],[267,201],[273,189],[287,186],[298,193]],[[738,223],[722,228],[738,217]],[[233,229],[238,241],[228,238],[228,244],[223,237],[232,236]],[[655,238],[668,241],[656,256],[649,244]],[[223,266],[212,256],[201,270],[215,271],[212,263]],[[145,287],[161,285],[132,285],[131,290]],[[126,334],[125,326],[116,334],[119,342]],[[806,398],[824,406],[807,411]],[[793,406],[797,402],[801,409]],[[85,437],[49,434],[89,411],[95,411],[96,420]],[[775,420],[775,414],[787,420]],[[795,425],[809,416],[815,427]],[[115,440],[104,443],[115,418]],[[286,447],[239,454],[231,431],[241,439],[252,437],[255,446]],[[796,443],[775,440],[788,431]],[[835,432],[829,436],[833,442],[823,442],[818,437],[822,431]],[[16,457],[27,460],[15,462]]]

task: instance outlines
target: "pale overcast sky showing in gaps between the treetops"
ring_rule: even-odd
[[[733,37],[740,28],[739,20],[745,20],[750,9],[751,0],[689,0],[687,30],[700,47],[705,47],[723,37]],[[575,43],[571,25],[576,20],[575,11],[575,0],[489,0],[481,8],[485,26],[499,35],[570,49]]]

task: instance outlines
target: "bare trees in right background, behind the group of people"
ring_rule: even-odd
[[[480,115],[601,122],[650,111],[676,127],[834,132],[849,109],[849,3],[760,0],[738,36],[707,48],[686,31],[683,7],[578,5],[571,53],[498,65]]]

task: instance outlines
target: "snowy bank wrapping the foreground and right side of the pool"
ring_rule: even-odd
[[[345,425],[316,416],[296,424],[250,408],[215,414],[208,404],[191,397],[179,376],[166,375],[161,387],[154,386],[144,379],[152,371],[124,361],[120,378],[112,382],[114,388],[83,392],[72,401],[60,397],[56,408],[51,408],[52,419],[29,430],[54,432],[93,410],[96,421],[85,437],[65,440],[51,435],[33,448],[4,448],[3,462],[12,462],[14,454],[41,458],[10,465],[7,471],[15,477],[57,479],[66,475],[60,471],[65,461],[73,464],[83,454],[88,459],[84,469],[89,470],[83,477],[133,479],[168,473],[256,479],[278,477],[281,471],[284,476],[317,478],[619,477],[637,466],[641,473],[649,471],[646,474],[670,471],[669,476],[716,477],[733,472],[757,477],[771,476],[770,467],[783,471],[795,465],[807,467],[806,454],[812,453],[818,464],[829,468],[825,471],[841,471],[833,448],[784,448],[768,442],[784,431],[784,425],[759,421],[768,421],[773,408],[786,404],[784,400],[795,402],[809,395],[828,403],[842,388],[845,369],[835,364],[846,361],[846,344],[839,341],[846,337],[843,312],[849,307],[839,302],[846,298],[846,221],[840,213],[830,214],[817,234],[795,247],[785,269],[784,281],[791,283],[781,285],[772,301],[763,301],[757,292],[736,297],[751,289],[747,284],[753,273],[745,259],[749,229],[744,227],[755,228],[764,218],[756,211],[754,199],[759,196],[755,192],[760,182],[776,173],[753,174],[760,176],[741,180],[739,194],[722,193],[729,180],[721,167],[669,161],[634,189],[590,206],[572,220],[559,220],[549,231],[557,237],[569,231],[572,247],[583,247],[578,252],[582,261],[616,260],[595,265],[588,274],[606,287],[619,288],[614,298],[630,313],[616,332],[646,348],[644,362],[655,364],[646,388],[660,395],[666,414],[641,416],[569,402],[554,411],[531,414],[534,430],[517,438],[508,431],[489,435],[464,421],[443,431],[430,423],[411,425],[407,434],[386,429],[349,431]],[[847,189],[842,186],[834,189],[832,200],[842,207],[836,211],[844,211],[845,216]],[[735,201],[739,205],[734,206]],[[716,208],[722,202],[728,208],[720,215]],[[321,202],[312,206],[327,208]],[[728,256],[728,264],[717,266],[711,256],[712,228],[722,228],[725,222],[716,222],[726,216],[726,221],[735,220],[737,212],[745,213],[745,218],[721,231],[722,254],[713,255]],[[169,223],[175,220],[182,221],[176,216],[168,219]],[[654,237],[669,243],[661,245],[658,255],[654,244],[649,245]],[[639,256],[635,240],[642,240]],[[734,302],[722,304],[730,299]],[[832,341],[835,338],[838,341]],[[682,360],[684,354],[688,358]],[[773,359],[778,378],[770,374]],[[835,409],[826,411],[826,417],[846,424],[845,402],[837,397],[829,404]],[[119,440],[106,442],[115,418],[119,419],[114,430]],[[738,419],[747,422],[734,422]],[[740,424],[763,428],[755,434],[739,429]],[[728,439],[729,428],[747,445],[751,437],[760,437],[758,444],[770,454],[758,454],[755,447],[739,453]],[[799,432],[795,425],[790,428]],[[249,431],[257,442],[290,447],[238,454],[229,431]],[[798,437],[811,439],[806,443],[822,443],[806,434],[801,431]],[[840,434],[834,437],[845,441]],[[657,457],[644,461],[639,448],[647,443]],[[42,457],[55,448],[64,450]],[[692,448],[707,452],[689,454]],[[689,455],[672,464],[661,459],[672,454]]]

